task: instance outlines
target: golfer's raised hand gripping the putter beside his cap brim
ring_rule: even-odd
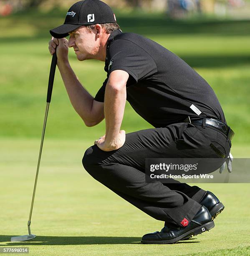
[[[59,62],[68,61],[68,40],[66,38],[51,38],[48,43],[48,49],[50,54],[53,55],[56,52]]]

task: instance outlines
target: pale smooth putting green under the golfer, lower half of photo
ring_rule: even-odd
[[[29,247],[31,255],[247,255],[249,184],[202,184],[225,204],[215,228],[189,241],[143,245],[141,236],[160,230],[157,221],[95,181],[81,158],[92,141],[44,143],[31,222],[33,241],[10,242],[28,233],[27,220],[39,140],[5,139],[0,149],[0,246]],[[250,148],[244,148],[250,153]],[[235,148],[235,156],[240,148]],[[206,254],[207,253],[207,254]]]

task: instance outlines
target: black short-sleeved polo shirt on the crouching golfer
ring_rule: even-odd
[[[129,74],[127,101],[154,127],[192,119],[215,118],[225,122],[210,85],[186,62],[156,42],[135,33],[111,33],[104,70],[107,79],[95,100],[104,102],[106,83],[114,70]]]

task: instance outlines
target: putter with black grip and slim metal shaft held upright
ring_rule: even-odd
[[[29,217],[29,220],[28,220],[28,232],[29,232],[29,234],[25,235],[25,236],[13,236],[10,239],[10,241],[12,241],[12,242],[28,241],[28,240],[34,239],[36,237],[35,235],[31,234],[30,220],[31,220],[33,204],[34,204],[34,199],[35,199],[35,189],[36,189],[36,183],[37,183],[37,179],[38,179],[40,160],[41,160],[42,149],[43,149],[43,139],[44,139],[45,127],[46,127],[46,122],[47,122],[47,117],[48,117],[48,108],[49,108],[49,105],[50,105],[50,102],[51,102],[53,82],[54,82],[55,71],[56,71],[56,63],[57,63],[57,56],[56,56],[56,53],[54,53],[53,57],[52,57],[52,61],[51,61],[51,70],[50,70],[50,76],[49,76],[49,80],[48,80],[47,104],[46,104],[46,110],[45,110],[45,117],[44,117],[44,121],[43,121],[42,140],[41,140],[41,145],[40,145],[38,165],[37,165],[36,175],[35,175],[35,185],[34,185],[33,196],[32,196],[31,207],[30,207],[30,217]]]

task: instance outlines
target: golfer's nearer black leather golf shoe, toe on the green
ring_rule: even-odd
[[[167,244],[176,243],[186,237],[196,236],[215,226],[212,217],[206,207],[202,206],[194,218],[186,227],[168,228],[146,234],[142,237],[141,243]]]

